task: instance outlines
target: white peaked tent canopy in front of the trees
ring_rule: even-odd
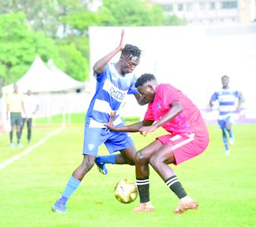
[[[84,89],[84,83],[71,78],[66,73],[53,67],[46,67],[39,56],[36,56],[27,73],[17,82],[21,92],[69,92]],[[13,91],[13,84],[3,87],[3,93]]]

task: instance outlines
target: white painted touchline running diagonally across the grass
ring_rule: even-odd
[[[50,137],[52,137],[52,135],[56,135],[59,132],[62,132],[63,129],[64,127],[56,129],[53,132],[50,132],[48,135],[46,135],[45,138],[41,138],[40,141],[38,141],[35,145],[27,148],[25,151],[21,152],[21,154],[17,154],[14,157],[9,158],[8,160],[5,160],[3,163],[0,163],[0,170],[4,169],[6,166],[13,163],[14,160],[19,160],[21,157],[24,157],[25,155],[30,154],[30,152],[35,150],[37,147],[39,147],[40,145],[43,145]]]

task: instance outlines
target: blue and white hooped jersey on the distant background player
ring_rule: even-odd
[[[219,120],[232,115],[237,107],[238,98],[242,98],[242,94],[237,90],[221,89],[219,92],[214,92],[210,101],[219,101]]]

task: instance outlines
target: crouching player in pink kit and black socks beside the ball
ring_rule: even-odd
[[[144,120],[129,126],[115,127],[112,124],[113,113],[106,126],[114,132],[140,132],[144,136],[162,126],[169,133],[156,138],[135,155],[136,182],[141,203],[133,211],[154,211],[150,203],[149,164],[179,197],[179,205],[173,212],[194,210],[198,203],[188,196],[168,164],[178,165],[198,156],[207,148],[209,135],[200,110],[179,89],[170,84],[158,84],[153,74],[143,74],[137,79],[135,87],[148,103]]]

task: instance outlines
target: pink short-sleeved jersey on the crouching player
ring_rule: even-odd
[[[167,132],[171,132],[172,135],[194,132],[195,136],[208,139],[207,126],[198,107],[186,95],[170,84],[160,84],[157,87],[153,103],[148,104],[144,119],[160,120],[170,110],[170,105],[175,101],[182,104],[183,111],[163,125],[163,128]]]

